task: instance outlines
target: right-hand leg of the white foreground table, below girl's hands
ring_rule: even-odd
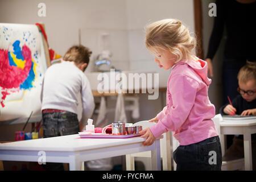
[[[151,165],[153,171],[161,171],[160,140],[155,140],[155,150],[151,151]]]

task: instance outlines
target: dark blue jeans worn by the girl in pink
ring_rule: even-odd
[[[222,164],[221,144],[218,136],[174,151],[177,171],[220,171]]]

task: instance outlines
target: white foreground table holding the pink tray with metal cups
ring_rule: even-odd
[[[38,162],[46,154],[46,163],[69,163],[69,170],[75,171],[81,170],[83,162],[88,160],[152,151],[152,170],[161,170],[159,138],[151,146],[143,146],[144,140],[141,137],[79,138],[75,134],[0,143],[0,160]]]

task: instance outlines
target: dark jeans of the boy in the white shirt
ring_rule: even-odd
[[[79,133],[77,114],[68,111],[43,113],[43,137],[58,137]],[[50,171],[64,170],[62,163],[47,163]]]

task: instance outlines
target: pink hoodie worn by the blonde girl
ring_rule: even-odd
[[[208,98],[211,82],[207,77],[207,62],[177,63],[168,79],[167,106],[156,115],[158,123],[150,127],[154,137],[174,131],[174,137],[184,146],[217,136],[212,121],[215,107]]]

